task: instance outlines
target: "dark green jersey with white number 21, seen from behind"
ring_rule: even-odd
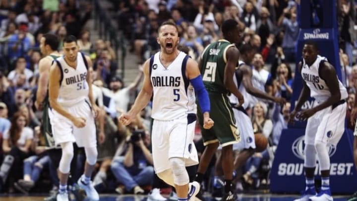
[[[228,93],[224,85],[224,71],[226,67],[226,52],[235,46],[227,40],[219,40],[208,45],[201,57],[201,74],[203,84],[208,92]]]

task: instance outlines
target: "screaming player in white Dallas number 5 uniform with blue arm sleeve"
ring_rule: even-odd
[[[152,155],[157,175],[174,186],[179,201],[194,199],[197,182],[189,183],[185,166],[198,164],[193,136],[196,122],[196,91],[204,116],[203,126],[210,129],[210,101],[197,63],[178,50],[178,28],[172,21],[158,30],[161,51],[144,63],[144,82],[131,110],[120,116],[128,125],[153,95]]]

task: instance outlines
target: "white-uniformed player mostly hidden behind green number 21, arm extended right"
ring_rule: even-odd
[[[253,155],[255,150],[253,126],[251,124],[249,116],[245,111],[248,105],[252,103],[249,97],[255,96],[258,98],[271,100],[280,104],[284,104],[286,102],[284,98],[271,96],[265,91],[261,91],[253,86],[251,81],[252,70],[251,67],[249,67],[249,64],[251,63],[254,57],[255,49],[249,43],[247,43],[240,47],[239,52],[240,60],[238,63],[238,69],[235,72],[233,80],[237,85],[238,90],[244,97],[244,104],[238,105],[238,98],[234,94],[231,94],[229,96],[230,103],[233,108],[233,113],[236,119],[236,126],[238,127],[241,138],[238,143],[233,144],[233,150],[240,151],[239,154],[236,156],[236,160],[234,162],[235,170],[242,167],[245,164],[246,160]],[[213,184],[214,191],[212,193],[212,196],[217,200],[222,198],[223,196],[221,188],[216,188],[219,186],[220,183],[222,183],[218,182],[218,180],[220,179],[219,176],[221,175],[223,175],[222,154],[216,161],[215,179]]]

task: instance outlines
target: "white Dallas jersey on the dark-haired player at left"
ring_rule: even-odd
[[[61,70],[58,102],[63,106],[72,106],[88,98],[87,67],[81,53],[77,54],[77,67],[68,66],[64,56],[58,58]]]

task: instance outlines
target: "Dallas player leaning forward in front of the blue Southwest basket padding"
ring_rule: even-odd
[[[302,60],[298,64],[303,88],[290,114],[291,123],[296,116],[299,120],[307,120],[304,150],[306,188],[304,195],[296,201],[332,201],[327,144],[337,145],[345,131],[347,90],[339,81],[335,68],[318,53],[315,42],[304,44]],[[315,98],[318,105],[299,111],[309,96]],[[316,153],[322,179],[321,191],[317,195],[314,184]]]

